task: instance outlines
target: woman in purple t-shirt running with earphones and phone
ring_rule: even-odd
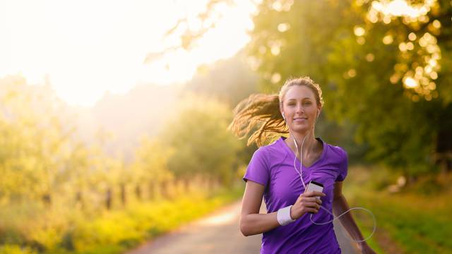
[[[261,253],[341,253],[331,210],[338,216],[349,209],[342,193],[347,152],[314,138],[322,107],[319,85],[304,77],[287,80],[279,95],[251,95],[234,109],[229,128],[236,135],[243,138],[262,123],[247,144],[256,142],[259,148],[243,177],[246,188],[240,217],[244,236],[263,234]],[[287,131],[288,138],[280,136],[261,146],[272,134]],[[305,192],[309,181],[323,184],[323,191]],[[262,197],[266,214],[259,214]],[[356,241],[363,239],[350,213],[340,222]],[[357,246],[362,253],[375,253],[365,241]]]

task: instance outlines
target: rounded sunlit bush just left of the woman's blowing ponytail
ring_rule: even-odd
[[[174,148],[169,170],[179,179],[201,175],[231,183],[239,150],[239,141],[227,131],[231,109],[194,94],[186,95],[179,107],[160,135],[164,146]]]

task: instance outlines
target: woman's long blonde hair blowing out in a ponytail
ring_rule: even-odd
[[[309,77],[289,78],[280,88],[279,94],[253,94],[239,102],[233,110],[234,119],[227,129],[242,139],[260,123],[261,126],[254,131],[246,143],[246,145],[256,143],[258,147],[261,147],[266,140],[274,138],[278,133],[289,133],[280,107],[283,107],[283,99],[287,91],[294,85],[304,85],[311,89],[316,97],[317,106],[323,107],[322,90],[319,84],[314,83]]]

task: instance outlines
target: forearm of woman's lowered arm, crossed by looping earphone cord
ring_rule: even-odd
[[[350,209],[350,206],[347,203],[347,200],[345,199],[344,195],[341,195],[340,197],[334,198],[333,200],[333,214],[338,217],[340,214],[343,214],[343,212]],[[361,231],[359,231],[357,224],[355,223],[355,220],[352,217],[352,214],[347,212],[343,216],[339,218],[340,224],[344,226],[344,228],[347,230],[348,234],[355,239],[355,241],[362,241],[364,239],[362,237]]]

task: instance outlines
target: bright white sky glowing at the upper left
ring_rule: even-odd
[[[197,1],[0,0],[0,78],[22,73],[28,83],[49,76],[69,104],[90,106],[106,91],[121,93],[138,83],[189,80],[197,66],[235,54],[249,41],[254,5],[237,1],[191,52],[179,50],[144,64],[145,56],[174,40],[163,33],[176,20],[202,10]],[[196,24],[194,24],[196,25]]]

